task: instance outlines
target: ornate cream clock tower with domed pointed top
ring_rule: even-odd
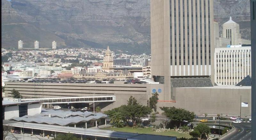
[[[113,63],[113,56],[111,51],[108,49],[106,50],[105,56],[103,58],[103,67],[102,70],[103,72],[114,72],[114,63]]]

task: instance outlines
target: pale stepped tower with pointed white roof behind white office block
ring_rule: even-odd
[[[233,21],[231,17],[223,24],[222,32],[224,38],[230,39],[230,45],[251,44],[250,40],[241,38],[239,24]]]

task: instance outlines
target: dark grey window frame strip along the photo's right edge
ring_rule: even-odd
[[[251,0],[252,60],[256,60],[256,0]],[[256,139],[256,61],[252,61],[252,139]]]

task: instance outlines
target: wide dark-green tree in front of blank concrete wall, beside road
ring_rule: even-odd
[[[160,107],[164,111],[166,117],[168,117],[176,128],[180,127],[182,121],[191,122],[195,118],[195,113],[182,108],[173,107]]]

